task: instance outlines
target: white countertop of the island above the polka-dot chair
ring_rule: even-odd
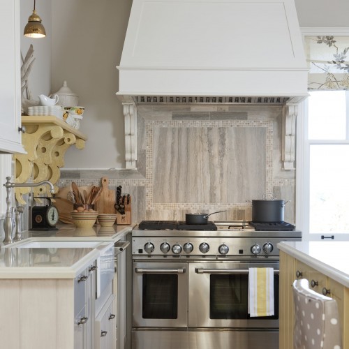
[[[349,288],[349,242],[280,242],[277,246]]]

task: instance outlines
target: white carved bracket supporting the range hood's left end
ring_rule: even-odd
[[[134,103],[122,103],[125,117],[126,168],[137,168],[137,107]]]

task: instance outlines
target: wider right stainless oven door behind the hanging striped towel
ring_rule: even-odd
[[[274,316],[248,315],[248,268],[274,268]],[[279,262],[189,264],[189,327],[278,328]]]

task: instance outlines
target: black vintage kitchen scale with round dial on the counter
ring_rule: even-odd
[[[47,199],[49,204],[31,208],[30,230],[58,230],[56,224],[58,223],[59,215],[57,208],[52,205],[52,198],[36,197],[34,199]]]

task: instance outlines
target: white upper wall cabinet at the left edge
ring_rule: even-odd
[[[20,0],[1,4],[0,153],[24,153],[21,127]]]

